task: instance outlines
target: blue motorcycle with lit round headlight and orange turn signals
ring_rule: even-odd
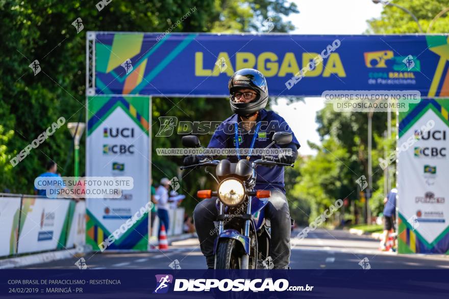
[[[289,144],[291,140],[291,133],[276,132],[266,149],[273,144]],[[194,135],[183,137],[182,144],[191,148],[202,147]],[[281,163],[272,156],[262,156],[255,161],[240,159],[236,163],[206,157],[199,164],[181,167],[205,167],[206,173],[218,183],[217,191],[197,192],[200,199],[216,200],[218,236],[214,241],[215,269],[270,269],[273,266],[269,256],[271,228],[269,220],[264,217],[264,207],[271,192],[255,189],[258,166],[293,167],[293,164]],[[207,167],[215,167],[215,176]]]

